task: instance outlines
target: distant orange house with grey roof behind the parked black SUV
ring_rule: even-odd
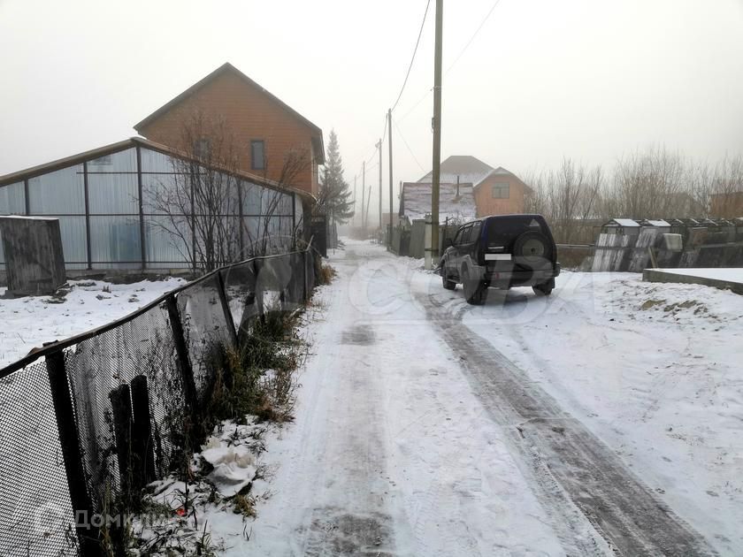
[[[430,183],[428,172],[418,183]],[[493,168],[469,155],[449,156],[441,163],[440,182],[470,184],[476,206],[476,216],[505,215],[524,212],[524,198],[529,187],[513,172],[499,166]]]

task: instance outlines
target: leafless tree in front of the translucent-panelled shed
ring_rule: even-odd
[[[163,217],[154,225],[164,231],[172,245],[194,270],[212,271],[249,256],[295,246],[303,222],[287,223],[292,196],[286,191],[310,165],[306,151],[287,152],[278,181],[263,176],[254,184],[240,168],[240,146],[224,118],[208,118],[196,112],[184,120],[180,133],[183,156],[172,156],[172,173],[147,194]],[[242,207],[249,215],[239,217]]]

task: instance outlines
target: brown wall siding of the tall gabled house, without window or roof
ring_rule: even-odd
[[[317,164],[312,151],[312,133],[293,114],[285,111],[263,91],[250,85],[234,73],[216,76],[169,111],[159,115],[137,130],[151,141],[190,152],[182,145],[183,123],[195,113],[207,118],[225,118],[234,134],[239,150],[239,164],[244,172],[280,181],[287,153],[296,150],[310,157],[310,164],[287,185],[318,194]],[[250,141],[263,140],[265,169],[253,170],[250,161]]]

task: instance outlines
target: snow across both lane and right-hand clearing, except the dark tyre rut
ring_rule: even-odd
[[[249,539],[226,533],[227,554],[613,554],[623,529],[658,543],[666,519],[693,554],[739,553],[743,298],[565,272],[550,298],[491,291],[473,307],[420,262],[348,244],[316,298],[296,421],[267,443],[272,477],[254,487],[271,497]],[[448,335],[456,327],[470,332],[471,355]],[[478,377],[486,346],[503,359]],[[503,366],[524,374],[523,396],[554,402],[553,446],[488,403],[508,386]],[[488,374],[494,383],[482,383]],[[591,492],[590,468],[560,462],[563,439],[608,455],[594,464],[618,485]],[[626,516],[633,526],[586,513],[632,489],[649,498]]]

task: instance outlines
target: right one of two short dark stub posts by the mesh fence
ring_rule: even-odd
[[[138,375],[132,379],[132,454],[134,456],[132,479],[134,489],[140,490],[155,479],[155,454],[149,423],[149,389],[147,377]]]

